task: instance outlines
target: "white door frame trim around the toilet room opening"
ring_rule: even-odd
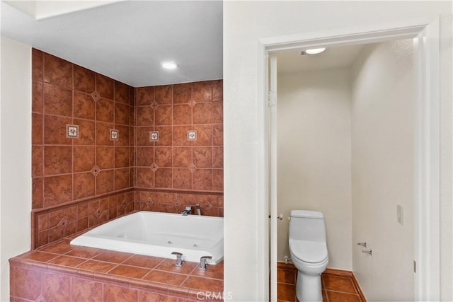
[[[438,124],[439,119],[436,115],[436,108],[438,106],[438,98],[435,93],[432,93],[432,90],[435,90],[435,83],[430,79],[426,74],[427,70],[438,68],[438,63],[436,66],[435,57],[438,56],[438,41],[435,39],[428,40],[426,42],[427,36],[432,34],[433,28],[437,24],[431,23],[430,25],[420,25],[418,27],[411,28],[399,28],[393,30],[385,30],[374,33],[355,33],[351,35],[326,35],[325,37],[320,37],[316,40],[304,40],[304,35],[298,37],[292,41],[285,40],[285,38],[274,38],[261,40],[265,53],[272,56],[275,52],[282,50],[295,50],[295,49],[306,49],[308,47],[314,46],[340,46],[340,45],[351,45],[351,44],[363,44],[367,42],[379,42],[386,40],[395,40],[395,37],[398,38],[413,38],[415,37],[415,74],[417,83],[415,87],[418,87],[414,91],[415,95],[415,123],[413,125],[414,136],[414,245],[413,245],[413,260],[417,264],[417,272],[414,274],[414,286],[415,289],[414,297],[415,300],[422,300],[424,298],[435,297],[438,295],[439,286],[438,279],[433,281],[429,279],[429,276],[434,276],[438,272],[438,265],[436,263],[436,258],[438,257],[438,238],[439,234],[435,231],[436,223],[438,219],[433,219],[433,214],[437,213],[435,209],[438,207],[438,197],[435,194],[428,194],[432,190],[438,190],[439,184],[436,177],[436,173],[439,167],[439,159],[437,158],[437,153],[435,148],[438,148]],[[309,35],[310,36],[310,35]],[[312,36],[312,35],[311,35]],[[425,38],[423,40],[423,38]],[[287,39],[287,38],[286,38]],[[434,57],[434,60],[433,60]],[[269,65],[272,71],[272,63]],[[272,74],[272,72],[271,72]],[[273,79],[273,76],[270,76],[270,79]],[[272,88],[273,83],[269,83],[270,88]],[[273,89],[270,89],[273,91]],[[427,93],[430,91],[430,94]],[[273,96],[275,93],[270,93],[270,96]],[[268,165],[268,196],[270,203],[267,207],[270,209],[270,299],[275,300],[276,297],[276,261],[277,255],[273,255],[273,252],[277,252],[275,245],[277,244],[277,215],[280,214],[276,211],[277,207],[277,178],[275,176],[277,163],[276,156],[273,154],[275,148],[276,139],[272,134],[275,135],[275,118],[277,106],[273,105],[273,101],[269,102],[268,107],[268,142],[265,146],[269,150],[269,165]],[[429,118],[428,118],[429,117]],[[436,135],[432,135],[436,134]],[[434,148],[434,149],[433,149]],[[427,167],[430,169],[426,170]],[[427,212],[428,210],[428,212]],[[396,209],[395,209],[396,212]],[[438,214],[437,214],[438,215]],[[266,215],[267,216],[267,215]],[[434,228],[433,228],[434,227]],[[437,244],[432,245],[432,241],[437,238]],[[352,243],[353,244],[353,243]],[[428,252],[429,250],[429,252]],[[354,267],[351,267],[354,270]],[[274,272],[274,273],[273,273]],[[438,274],[437,274],[438,275]],[[437,276],[436,275],[436,276]],[[274,280],[275,279],[275,280]],[[366,294],[366,293],[365,293]],[[434,298],[435,299],[435,298]]]

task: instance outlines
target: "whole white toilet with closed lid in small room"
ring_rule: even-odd
[[[323,301],[321,273],[327,267],[326,226],[319,211],[291,211],[289,252],[297,272],[299,301]]]

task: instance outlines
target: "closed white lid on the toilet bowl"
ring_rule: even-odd
[[[289,248],[292,255],[303,262],[319,263],[327,258],[327,247],[324,242],[294,240]]]

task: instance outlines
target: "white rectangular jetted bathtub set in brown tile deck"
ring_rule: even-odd
[[[224,257],[224,219],[139,211],[93,228],[71,240],[71,245],[172,258],[181,252],[183,260],[216,265]]]

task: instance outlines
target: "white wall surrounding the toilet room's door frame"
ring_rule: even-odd
[[[441,20],[442,175],[440,216],[441,298],[453,301],[452,251],[452,47],[450,1],[224,1],[224,227],[225,291],[236,301],[264,300],[265,245],[258,236],[260,204],[265,199],[263,37],[392,28],[410,21]],[[341,29],[341,30],[340,30]],[[263,219],[263,217],[260,217]],[[264,242],[265,243],[265,242]],[[261,262],[260,262],[261,261]],[[264,268],[263,268],[264,267]]]

